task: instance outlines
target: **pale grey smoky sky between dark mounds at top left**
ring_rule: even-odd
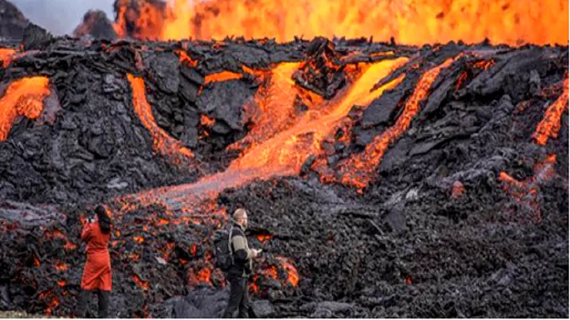
[[[73,32],[90,9],[103,10],[111,20],[114,0],[8,0],[34,24],[54,35]]]

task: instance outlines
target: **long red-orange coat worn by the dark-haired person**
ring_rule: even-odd
[[[111,232],[101,232],[99,223],[86,223],[81,232],[81,241],[87,242],[87,262],[81,278],[81,289],[111,291],[111,257],[107,249]]]

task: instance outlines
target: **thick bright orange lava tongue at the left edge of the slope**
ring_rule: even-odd
[[[6,140],[14,120],[20,115],[37,119],[44,109],[44,98],[50,93],[47,77],[23,78],[10,83],[0,98],[0,141]]]

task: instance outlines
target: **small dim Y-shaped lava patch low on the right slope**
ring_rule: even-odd
[[[550,154],[543,162],[535,166],[535,175],[523,182],[514,179],[505,172],[499,173],[499,181],[503,183],[503,189],[510,193],[516,202],[521,204],[522,209],[530,211],[532,221],[542,223],[542,213],[538,199],[539,185],[552,179],[555,175],[554,165],[556,154]]]

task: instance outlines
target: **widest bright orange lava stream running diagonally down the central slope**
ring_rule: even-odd
[[[311,154],[323,152],[320,143],[329,134],[331,128],[339,123],[348,114],[354,105],[366,106],[374,99],[380,97],[384,90],[394,88],[403,79],[403,75],[389,81],[384,86],[371,91],[375,83],[380,79],[388,77],[393,71],[404,65],[407,58],[386,59],[373,65],[365,65],[364,72],[352,83],[350,88],[341,97],[338,97],[325,105],[320,106],[318,111],[307,111],[296,118],[293,125],[286,126],[286,129],[277,132],[270,132],[272,136],[259,141],[257,137],[252,140],[256,143],[245,150],[241,156],[232,161],[229,168],[222,173],[210,175],[199,179],[194,184],[183,184],[179,186],[169,186],[150,191],[142,191],[136,198],[143,202],[161,202],[170,209],[181,209],[195,205],[201,200],[215,198],[223,189],[235,187],[254,179],[268,179],[272,176],[297,175],[304,161]],[[291,70],[290,65],[286,75]],[[282,72],[280,67],[277,72]],[[277,73],[279,74],[279,73]],[[273,77],[273,84],[276,88],[287,88],[291,86],[290,78],[285,76]],[[277,83],[276,83],[277,82]],[[288,84],[286,84],[288,83]],[[277,90],[275,91],[277,92]],[[291,93],[290,91],[285,91]],[[279,95],[281,97],[281,95]],[[286,97],[285,95],[283,97]],[[270,109],[288,109],[288,104],[293,99],[284,101],[275,99]],[[263,106],[261,107],[263,109]],[[274,118],[288,117],[288,113],[277,111]],[[284,120],[281,120],[282,122]],[[264,123],[261,121],[261,123]],[[279,122],[277,122],[279,123]],[[252,129],[252,136],[259,134],[259,131]]]

